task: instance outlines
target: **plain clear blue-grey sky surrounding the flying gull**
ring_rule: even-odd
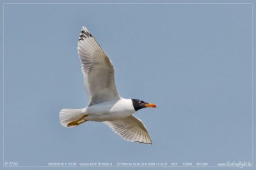
[[[153,145],[60,125],[62,108],[88,104],[82,26],[120,95],[157,104],[135,113]],[[4,4],[3,161],[252,162],[252,66],[252,4]]]

